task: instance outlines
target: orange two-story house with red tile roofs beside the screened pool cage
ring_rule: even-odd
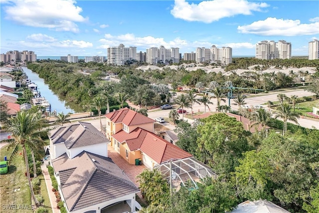
[[[171,159],[192,157],[188,152],[154,134],[155,120],[128,108],[105,115],[111,146],[130,164],[136,159],[152,169]]]

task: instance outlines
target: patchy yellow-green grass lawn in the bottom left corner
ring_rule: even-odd
[[[0,159],[9,158],[11,151],[4,146],[0,150]],[[31,193],[25,173],[23,155],[16,156],[9,166],[7,174],[0,175],[1,205],[31,205]],[[14,189],[20,191],[13,192]],[[0,210],[1,213],[15,213],[18,210]],[[32,210],[23,210],[24,213],[32,213]]]

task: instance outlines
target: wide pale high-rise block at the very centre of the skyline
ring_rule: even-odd
[[[166,49],[164,46],[148,48],[146,49],[146,62],[149,64],[178,63],[179,48]]]

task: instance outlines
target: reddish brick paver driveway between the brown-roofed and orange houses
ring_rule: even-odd
[[[125,174],[131,179],[131,181],[139,187],[139,183],[136,182],[136,176],[143,172],[143,170],[146,169],[146,166],[129,164],[129,162],[124,160],[122,156],[110,146],[110,144],[108,145],[108,157],[111,158],[113,162],[120,167],[120,169],[124,170]]]

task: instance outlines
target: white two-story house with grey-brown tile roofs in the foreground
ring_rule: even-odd
[[[139,189],[108,158],[110,141],[92,124],[61,126],[49,138],[51,165],[68,213],[101,213],[121,202],[136,211]]]

